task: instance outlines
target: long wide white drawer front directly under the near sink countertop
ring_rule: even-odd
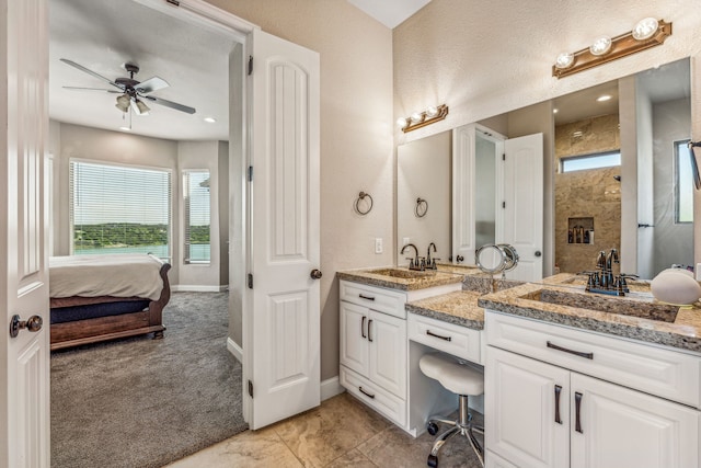
[[[490,346],[701,408],[701,356],[490,310],[485,330]]]

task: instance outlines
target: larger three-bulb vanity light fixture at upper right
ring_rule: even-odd
[[[552,76],[566,77],[658,46],[670,35],[671,23],[645,18],[639,21],[631,32],[612,38],[600,36],[590,47],[575,53],[560,54],[552,66]]]

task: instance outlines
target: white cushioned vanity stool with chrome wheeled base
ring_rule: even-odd
[[[426,423],[426,429],[430,435],[438,432],[438,423],[450,424],[448,431],[440,434],[434,442],[433,449],[428,455],[428,466],[438,466],[438,452],[440,447],[453,435],[460,434],[468,438],[472,449],[484,466],[484,454],[479,441],[472,431],[484,434],[484,427],[472,425],[472,415],[468,411],[468,398],[484,393],[484,376],[481,372],[457,363],[455,359],[441,353],[430,353],[422,356],[418,362],[421,372],[427,377],[438,380],[447,390],[459,396],[458,420],[450,421],[443,416],[430,416]]]

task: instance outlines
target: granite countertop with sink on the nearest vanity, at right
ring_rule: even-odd
[[[527,283],[480,296],[478,304],[485,309],[515,316],[701,352],[701,304],[690,307],[664,305],[648,293],[645,282],[636,282],[637,287],[631,288],[632,292],[623,298],[586,293],[583,286],[568,279],[573,276],[560,274],[541,283]],[[538,300],[543,290],[564,293],[563,296],[572,299],[576,307]],[[612,305],[620,312],[594,309],[601,308],[601,304]],[[665,322],[624,315],[644,310],[659,316],[676,312],[676,318],[670,317],[674,321]]]

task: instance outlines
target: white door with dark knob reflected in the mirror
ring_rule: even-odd
[[[543,277],[543,134],[504,142],[504,222],[501,242],[516,248],[518,266],[509,279]]]

